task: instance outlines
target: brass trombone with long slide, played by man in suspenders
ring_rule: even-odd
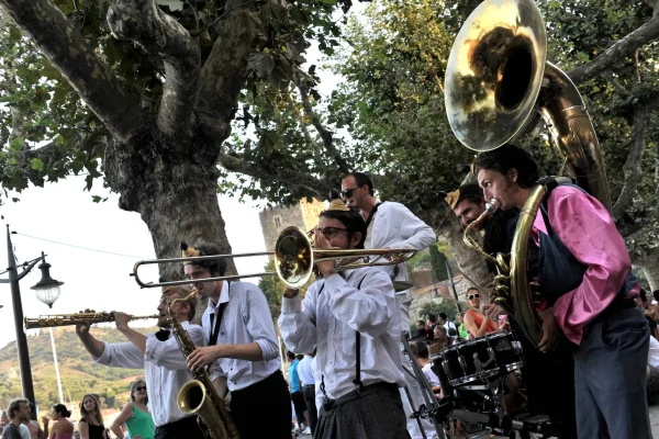
[[[320,250],[313,248],[313,244],[311,243],[309,235],[309,233],[303,232],[299,227],[290,226],[281,230],[281,233],[279,234],[279,237],[275,243],[275,251],[143,260],[135,263],[131,275],[135,278],[135,282],[137,282],[137,284],[141,288],[189,285],[190,283],[196,282],[230,281],[243,278],[265,278],[267,275],[277,275],[288,288],[299,289],[303,286],[306,282],[309,282],[311,275],[314,272],[314,267],[319,262],[334,260],[336,261],[336,269],[338,271],[343,271],[362,267],[395,266],[398,263],[405,262],[414,255],[416,255],[416,250],[413,248]],[[196,279],[194,281],[182,280],[159,283],[145,282],[139,278],[139,274],[137,272],[139,267],[153,263],[200,262],[211,259],[248,258],[254,256],[273,257],[276,271],[266,271],[263,273],[250,274],[222,275],[215,278]],[[355,259],[361,259],[361,261],[356,261]]]

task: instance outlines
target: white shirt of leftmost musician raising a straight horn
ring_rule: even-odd
[[[206,346],[203,329],[199,325],[181,322],[194,346]],[[178,408],[177,396],[192,374],[186,365],[186,358],[176,338],[159,341],[154,334],[146,336],[146,352],[142,353],[132,342],[107,344],[103,353],[94,362],[115,368],[144,368],[144,378],[148,391],[148,410],[156,427],[182,419],[188,415]]]

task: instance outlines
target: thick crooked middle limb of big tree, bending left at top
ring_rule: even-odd
[[[199,43],[155,0],[115,0],[108,9],[108,24],[118,40],[135,42],[165,63],[165,87],[158,109],[158,128],[168,135],[192,136],[192,117],[201,52]]]

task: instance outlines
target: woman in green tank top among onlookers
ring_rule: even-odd
[[[118,439],[125,439],[122,426],[125,424],[129,435],[133,439],[154,439],[156,427],[154,418],[148,410],[148,394],[144,380],[131,384],[131,399],[114,419],[110,429]]]

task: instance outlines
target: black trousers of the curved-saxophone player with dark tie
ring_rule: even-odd
[[[292,417],[281,371],[231,394],[231,418],[241,439],[290,439]]]

